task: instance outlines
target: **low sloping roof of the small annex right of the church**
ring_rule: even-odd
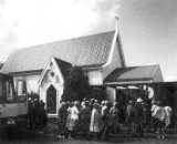
[[[133,80],[150,80],[159,65],[129,66],[115,69],[104,82],[119,82]]]

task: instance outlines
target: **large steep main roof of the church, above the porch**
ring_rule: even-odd
[[[111,31],[15,50],[8,59],[2,72],[44,69],[51,55],[73,65],[105,64],[114,33]]]

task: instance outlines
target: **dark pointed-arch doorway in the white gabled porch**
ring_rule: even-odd
[[[46,90],[46,113],[56,114],[56,90],[53,85]]]

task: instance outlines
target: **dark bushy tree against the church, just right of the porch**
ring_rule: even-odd
[[[73,66],[64,82],[62,102],[82,101],[84,97],[90,99],[91,88],[88,78],[85,76],[82,68]]]

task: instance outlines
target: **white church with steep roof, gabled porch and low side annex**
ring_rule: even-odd
[[[135,58],[136,59],[136,58]],[[25,79],[28,92],[39,93],[49,116],[56,116],[69,69],[77,65],[92,85],[107,85],[108,100],[115,100],[112,84],[163,82],[159,65],[127,68],[118,29],[104,33],[56,41],[14,50],[1,72],[14,81]]]

